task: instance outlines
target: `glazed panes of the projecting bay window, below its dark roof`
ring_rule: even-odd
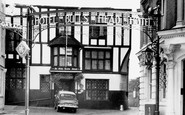
[[[53,67],[78,67],[78,48],[54,47]]]

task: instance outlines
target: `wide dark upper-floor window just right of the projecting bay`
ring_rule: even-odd
[[[85,49],[84,69],[91,71],[111,71],[112,50]]]

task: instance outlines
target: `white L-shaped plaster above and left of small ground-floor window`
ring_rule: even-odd
[[[50,67],[30,67],[30,89],[40,89],[40,74],[50,74]]]

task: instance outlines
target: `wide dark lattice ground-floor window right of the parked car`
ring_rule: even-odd
[[[86,100],[108,100],[108,80],[86,79]]]

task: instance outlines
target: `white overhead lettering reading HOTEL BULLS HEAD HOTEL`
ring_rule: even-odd
[[[50,14],[50,16],[36,17],[34,16],[34,25],[52,25],[56,23],[63,24],[124,24],[124,25],[139,25],[139,26],[151,26],[153,25],[153,20],[151,18],[140,18],[133,17],[130,13],[120,13],[117,15],[96,12],[59,12],[58,16],[56,14]]]

